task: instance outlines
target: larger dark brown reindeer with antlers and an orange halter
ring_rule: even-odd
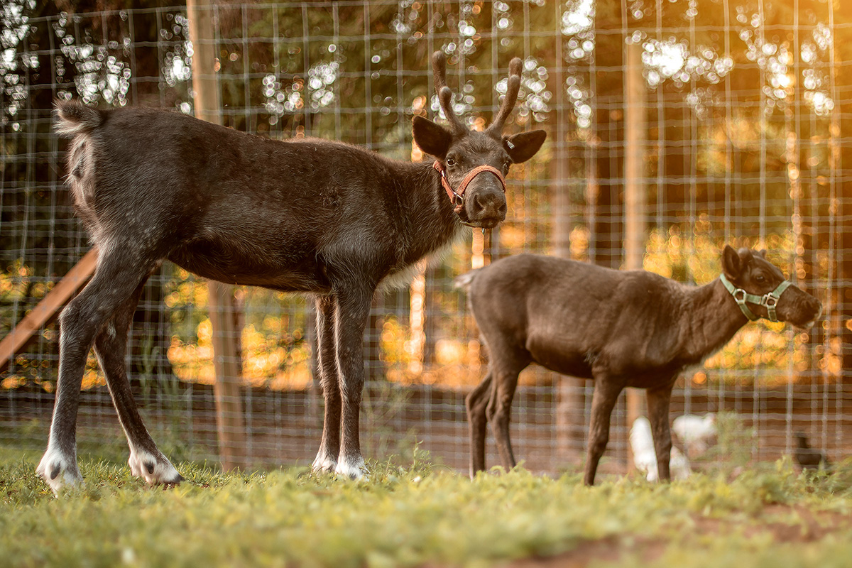
[[[413,129],[435,164],[335,141],[273,141],[173,112],[57,103],[57,131],[73,139],[68,184],[100,252],[94,277],[60,315],[54,416],[37,468],[54,491],[81,481],[75,431],[93,346],[127,435],[131,472],[153,484],[181,480],[136,410],[124,365],[142,286],[165,260],[226,283],[316,297],[325,419],[314,469],[363,475],[361,343],[373,293],[446,250],[465,225],[503,221],[509,165],[544,142],[541,130],[502,134],[521,60],[509,64],[509,89],[484,132],[453,114],[444,55],[435,53],[433,65],[451,129],[422,117]]]

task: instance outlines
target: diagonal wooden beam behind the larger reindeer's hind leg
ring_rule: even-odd
[[[77,290],[89,281],[95,273],[97,263],[97,250],[89,250],[54,286],[53,290],[50,290],[48,295],[38,302],[32,312],[27,313],[9,332],[9,335],[0,341],[0,372],[9,367],[14,356],[35,339],[38,330],[52,322]]]

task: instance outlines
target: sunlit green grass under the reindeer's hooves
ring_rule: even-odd
[[[33,473],[37,456],[14,454],[0,451],[8,566],[484,566],[563,555],[783,568],[852,558],[849,462],[831,475],[782,461],[730,481],[723,472],[671,485],[612,477],[586,488],[579,473],[523,469],[471,482],[415,452],[406,468],[371,464],[366,482],[183,463],[187,483],[164,490],[123,464],[83,459],[85,487],[57,499]]]

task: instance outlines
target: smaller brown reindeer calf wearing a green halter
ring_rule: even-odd
[[[765,252],[726,246],[722,276],[700,287],[538,255],[510,256],[458,277],[489,356],[488,373],[466,400],[471,477],[485,469],[486,422],[504,467],[515,467],[509,410],[518,374],[538,363],[595,381],[586,485],[595,483],[624,387],[648,389],[659,479],[670,479],[669,399],[677,375],[716,353],[749,319],[809,328],[822,313],[820,301],[787,282]]]

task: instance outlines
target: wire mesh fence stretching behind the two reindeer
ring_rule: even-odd
[[[53,101],[195,110],[186,7],[116,8],[37,12],[13,0],[3,11],[3,336],[89,250],[63,184],[66,143],[50,130]],[[463,398],[484,376],[487,353],[452,279],[521,251],[623,267],[629,218],[643,227],[648,270],[705,284],[720,272],[724,244],[765,248],[825,306],[809,331],[747,325],[680,377],[672,414],[736,413],[756,460],[789,453],[797,431],[832,458],[848,455],[852,158],[842,127],[852,61],[843,39],[852,28],[839,10],[819,0],[211,7],[218,117],[233,129],[429,159],[412,146],[411,121],[440,119],[429,54],[441,49],[455,109],[471,127],[491,117],[509,59],[520,56],[521,97],[507,130],[548,131],[544,150],[513,168],[500,227],[469,232],[411,284],[375,297],[364,349],[366,455],[406,455],[418,441],[436,461],[465,467]],[[642,83],[638,100],[628,95],[630,73]],[[638,138],[626,125],[631,104],[644,124]],[[642,157],[638,173],[625,169],[631,151]],[[625,200],[631,182],[642,187],[641,209]],[[308,463],[323,404],[312,302],[252,288],[236,294],[246,460]],[[167,263],[149,280],[131,329],[132,387],[154,438],[178,461],[219,455],[207,307],[205,283]],[[43,324],[3,370],[0,444],[43,447],[57,336],[55,324]],[[576,468],[590,394],[590,382],[524,371],[512,437],[528,468]],[[121,430],[94,357],[82,400],[81,451],[96,442],[118,452]],[[627,467],[627,416],[622,397],[604,470]],[[489,452],[488,462],[497,456]]]

